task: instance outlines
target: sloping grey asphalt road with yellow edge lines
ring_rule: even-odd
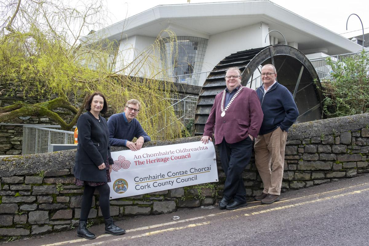
[[[7,246],[141,245],[369,245],[369,174],[307,189],[287,191],[270,205],[250,201],[233,211],[218,207],[181,209],[172,214],[137,216],[118,221],[125,235],[78,238],[76,232],[51,233],[9,242]],[[179,219],[173,219],[179,216]]]

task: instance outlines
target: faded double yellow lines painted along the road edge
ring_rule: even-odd
[[[275,202],[273,204],[278,204],[278,203],[287,202],[287,201],[294,201],[294,200],[299,200],[299,199],[304,199],[304,198],[309,198],[309,197],[316,197],[316,196],[319,196],[319,195],[329,194],[329,193],[332,193],[332,192],[338,192],[338,191],[347,190],[349,188],[355,188],[355,187],[359,187],[359,186],[364,186],[366,184],[369,184],[369,183],[358,184],[358,185],[355,185],[355,186],[349,186],[349,187],[340,188],[340,189],[332,190],[332,191],[325,191],[325,192],[322,192],[322,193],[317,193],[317,194],[313,194],[313,195],[307,195],[307,196],[304,196],[304,197],[297,197],[297,198],[285,199],[285,200],[282,199],[282,200],[280,200],[278,202]],[[332,198],[342,197],[342,195],[361,193],[362,191],[367,191],[367,190],[369,190],[369,188],[363,189],[363,190],[359,190],[359,191],[353,191],[353,192],[349,192],[349,193],[345,193],[345,194],[341,194],[341,195],[335,195],[335,196],[332,196],[332,197],[318,198],[318,199],[313,200],[313,201],[301,202],[301,203],[298,203],[298,204],[286,205],[286,206],[282,206],[282,207],[278,207],[278,208],[265,209],[265,210],[262,210],[262,211],[270,212],[270,211],[284,209],[284,208],[291,208],[291,207],[296,207],[296,206],[300,206],[300,205],[308,204],[308,203],[312,203],[312,202],[317,202],[317,201],[322,201],[322,200],[328,200],[328,199],[332,199]],[[259,201],[255,201],[255,202],[259,202]],[[249,202],[249,203],[253,203],[253,202]],[[254,209],[254,208],[258,208],[258,207],[265,207],[265,206],[268,206],[268,204],[261,204],[261,205],[256,205],[256,206],[253,206],[253,207],[238,208],[238,209],[234,209],[234,210],[226,210],[226,211],[218,212],[218,213],[215,213],[215,214],[208,214],[208,215],[194,217],[194,218],[189,218],[189,219],[182,219],[180,221],[171,221],[171,222],[162,223],[162,224],[156,224],[156,225],[150,225],[150,226],[142,226],[142,227],[135,228],[135,229],[129,229],[126,232],[129,233],[129,232],[136,232],[136,231],[142,231],[142,230],[147,230],[147,229],[154,229],[154,228],[158,228],[158,227],[162,227],[162,226],[175,225],[177,223],[184,223],[184,222],[190,222],[190,221],[199,220],[199,219],[206,219],[207,217],[218,216],[218,215],[229,213],[229,212],[236,212],[236,211],[241,211],[241,210],[249,210],[249,209]],[[254,214],[261,214],[262,211],[253,212],[251,214],[245,214],[245,216],[254,215]],[[210,223],[210,222],[206,222],[206,223]],[[200,225],[200,224],[201,223],[199,223],[199,224],[193,224],[193,225]],[[186,226],[183,226],[183,227],[178,227],[178,228],[187,228],[187,227]],[[146,234],[146,233],[144,233],[144,234]],[[144,235],[144,234],[142,234],[142,235]],[[104,234],[104,235],[98,236],[97,238],[103,238],[103,237],[107,237],[107,236],[112,236],[112,235],[110,235],[110,234]],[[132,238],[132,237],[124,237],[124,238]],[[122,238],[114,239],[114,240],[120,240],[120,239],[122,239]],[[60,245],[64,245],[64,244],[67,244],[67,243],[77,243],[77,242],[83,242],[83,241],[87,241],[87,240],[88,239],[82,238],[82,239],[75,239],[75,240],[69,240],[69,241],[64,241],[64,242],[50,243],[50,244],[45,244],[45,245],[41,245],[41,246],[60,246]]]

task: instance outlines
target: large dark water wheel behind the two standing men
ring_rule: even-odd
[[[214,67],[199,94],[195,114],[195,133],[203,134],[215,96],[225,88],[225,70],[229,67],[239,67],[241,84],[247,86],[258,67],[268,63],[276,66],[277,81],[296,96],[295,101],[300,111],[298,121],[321,119],[323,95],[320,80],[313,65],[298,49],[288,45],[270,45],[232,53]]]

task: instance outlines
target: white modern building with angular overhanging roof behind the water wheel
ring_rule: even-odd
[[[231,53],[284,44],[284,38],[309,59],[357,52],[362,48],[269,0],[159,5],[87,38],[116,40],[122,56],[117,64],[129,63],[145,52],[165,29],[176,34],[178,49],[178,57],[173,59],[170,53],[176,50],[170,49],[170,41],[164,39],[166,44],[161,52],[164,55],[156,53],[161,64],[175,65],[168,76],[211,71]],[[163,32],[161,37],[168,34]]]

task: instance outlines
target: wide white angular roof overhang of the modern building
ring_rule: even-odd
[[[126,39],[134,35],[156,38],[164,29],[177,36],[209,38],[264,22],[282,32],[301,51],[327,48],[329,55],[357,52],[361,46],[269,0],[159,5],[94,32],[88,38]],[[165,36],[165,34],[163,34]],[[272,32],[283,40],[282,35]],[[257,47],[255,47],[257,48]]]

